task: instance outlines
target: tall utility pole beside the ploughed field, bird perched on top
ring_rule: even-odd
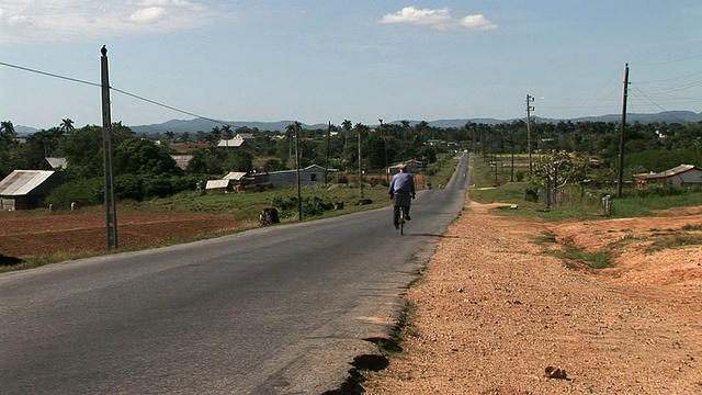
[[[114,201],[114,179],[112,173],[112,116],[110,113],[110,77],[107,48],[100,49],[101,89],[102,89],[102,151],[104,165],[104,204],[107,250],[117,248],[117,214]]]

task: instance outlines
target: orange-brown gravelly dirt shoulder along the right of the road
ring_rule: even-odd
[[[468,203],[449,228],[367,394],[702,394],[702,246],[684,244],[699,207],[557,225],[491,208]],[[615,267],[544,253],[565,245]]]

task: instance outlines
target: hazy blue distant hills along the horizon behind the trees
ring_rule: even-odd
[[[513,119],[513,120],[495,120],[495,119],[456,119],[456,120],[435,120],[435,121],[427,121],[430,126],[433,127],[461,127],[468,122],[474,123],[484,123],[488,125],[495,125],[500,123],[511,123],[514,121],[525,120],[524,119]],[[609,114],[609,115],[599,115],[599,116],[584,116],[573,120],[558,120],[558,119],[543,119],[543,117],[534,117],[536,122],[542,123],[557,123],[561,121],[570,121],[573,123],[578,122],[621,122],[621,114]],[[400,124],[404,120],[388,122],[388,124]],[[416,125],[421,121],[409,121],[410,125]],[[285,127],[292,124],[294,121],[278,121],[278,122],[258,122],[258,121],[231,121],[227,122],[227,124],[231,125],[233,129],[237,127],[247,126],[250,128],[258,128],[259,131],[272,131],[272,132],[284,132]],[[652,122],[666,122],[666,123],[697,123],[702,122],[702,113],[695,113],[692,111],[667,111],[660,112],[657,114],[626,114],[626,123],[652,123]],[[163,132],[170,131],[173,133],[197,133],[199,131],[210,132],[213,127],[219,126],[222,127],[222,123],[217,123],[210,120],[204,119],[193,119],[193,120],[170,120],[168,122],[163,122],[160,124],[150,124],[150,125],[135,125],[129,126],[137,134],[161,134]],[[371,127],[377,127],[378,125],[369,125]],[[327,128],[326,123],[318,124],[302,124],[303,128],[306,129],[325,129]],[[29,126],[14,126],[15,132],[19,135],[27,135],[34,132],[38,132],[37,128],[29,127]]]

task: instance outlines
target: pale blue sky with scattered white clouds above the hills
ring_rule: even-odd
[[[699,0],[0,0],[0,120],[577,119],[702,112]]]

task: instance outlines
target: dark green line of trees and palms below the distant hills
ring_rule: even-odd
[[[251,134],[244,147],[217,147],[220,139]],[[313,163],[354,173],[359,165],[367,171],[416,159],[426,169],[439,154],[468,149],[484,157],[490,155],[533,155],[569,153],[598,159],[605,169],[602,177],[615,179],[621,125],[616,122],[532,123],[531,142],[525,121],[485,124],[467,122],[461,127],[437,127],[427,122],[400,121],[371,127],[344,120],[327,128],[308,129],[299,123],[285,131],[260,131],[247,126],[217,125],[211,131],[137,135],[121,122],[112,125],[113,173],[122,199],[141,200],[182,189],[194,189],[197,181],[220,178],[228,171],[265,172],[293,169],[295,155],[299,166]],[[76,128],[70,119],[58,126],[30,134],[20,144],[10,121],[0,124],[0,178],[15,169],[39,169],[46,157],[67,159],[63,170],[68,184],[98,180],[103,176],[102,127]],[[702,123],[633,123],[625,128],[625,172],[663,171],[682,162],[702,162]],[[531,143],[531,144],[530,144]],[[192,145],[186,169],[171,157],[174,144]],[[361,150],[359,150],[361,144]],[[359,154],[361,157],[359,157]],[[359,163],[359,160],[361,161]],[[90,192],[99,195],[98,192]],[[88,193],[88,194],[90,194]]]

